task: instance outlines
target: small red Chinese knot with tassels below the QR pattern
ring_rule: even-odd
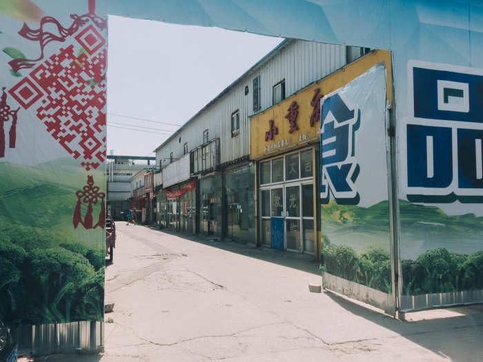
[[[87,177],[87,185],[85,185],[82,190],[77,191],[75,196],[77,196],[77,205],[75,205],[74,218],[72,219],[74,228],[77,229],[79,223],[86,229],[95,229],[97,226],[103,228],[106,223],[106,206],[104,205],[106,194],[99,192],[99,186],[94,185],[94,178],[92,176]],[[96,205],[99,201],[101,202],[99,220],[97,221],[97,224],[93,225],[92,205]],[[81,216],[82,203],[87,205],[87,213],[83,219]]]

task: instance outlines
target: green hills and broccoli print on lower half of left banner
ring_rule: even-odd
[[[106,192],[105,174],[88,174]],[[86,171],[70,158],[0,163],[0,320],[8,325],[103,319],[104,230],[72,224],[84,185]],[[97,203],[95,222],[99,212]]]

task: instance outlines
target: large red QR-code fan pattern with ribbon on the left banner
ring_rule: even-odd
[[[39,41],[41,57],[35,60],[16,59],[14,70],[33,68],[43,59],[43,48],[50,41],[75,43],[60,48],[34,68],[19,83],[8,90],[25,108],[46,125],[47,132],[81,165],[90,170],[106,159],[106,39],[97,30],[106,28],[106,21],[94,14],[94,1],[89,1],[89,13],[77,16],[66,29],[51,17],[41,20],[39,30],[24,24],[21,32],[26,39]],[[88,24],[89,23],[89,24]],[[43,26],[54,24],[59,35],[45,32]],[[81,50],[75,54],[75,46]]]

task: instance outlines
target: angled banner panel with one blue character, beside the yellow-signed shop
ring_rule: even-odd
[[[322,100],[322,266],[391,294],[385,114],[382,64]]]

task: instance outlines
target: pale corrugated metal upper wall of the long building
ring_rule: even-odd
[[[188,149],[193,150],[203,143],[203,132],[208,129],[209,139],[220,139],[220,163],[236,161],[250,155],[250,123],[248,117],[253,114],[253,78],[260,75],[260,99],[264,110],[272,105],[273,86],[285,79],[285,95],[293,93],[334,72],[346,64],[346,47],[313,41],[288,41],[244,79],[224,94],[221,99],[210,105],[190,124],[171,139],[163,148],[157,150],[156,159],[168,160],[170,152],[175,159],[183,154],[183,145],[188,142]],[[249,92],[244,94],[245,86]],[[240,112],[240,132],[235,137],[231,134],[231,114]],[[181,138],[181,140],[180,140]],[[164,164],[166,162],[164,161]]]

